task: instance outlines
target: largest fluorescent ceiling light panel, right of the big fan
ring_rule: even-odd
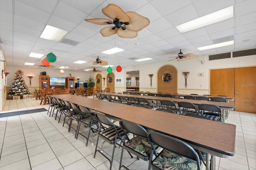
[[[211,25],[213,23],[217,23],[220,21],[228,20],[234,17],[234,7],[230,6],[228,8],[224,8],[222,10],[213,12],[206,16],[202,16],[192,21],[188,21],[186,23],[182,23],[181,25],[176,26],[176,28],[181,32],[185,33],[188,31],[192,31],[194,29],[198,29],[201,27],[205,27],[207,25]]]

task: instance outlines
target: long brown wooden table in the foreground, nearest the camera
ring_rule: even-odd
[[[54,97],[79,104],[116,119],[138,123],[147,129],[159,131],[189,143],[193,148],[207,154],[206,169],[210,168],[209,154],[212,155],[212,170],[215,157],[226,158],[235,154],[236,125],[198,119],[163,111],[128,106],[114,102],[94,100],[70,94]]]

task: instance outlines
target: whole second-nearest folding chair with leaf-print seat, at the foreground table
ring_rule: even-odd
[[[138,158],[148,161],[150,158],[151,146],[148,141],[148,132],[146,131],[146,129],[144,129],[144,127],[142,127],[141,125],[123,119],[120,120],[120,127],[122,127],[125,134],[126,131],[129,131],[134,135],[134,137],[132,139],[129,139],[128,135],[126,134],[126,138],[128,139],[128,141],[125,142],[123,139],[124,145],[122,147],[119,170],[120,168],[125,168],[129,170],[126,166],[122,165],[124,149],[134,154]]]

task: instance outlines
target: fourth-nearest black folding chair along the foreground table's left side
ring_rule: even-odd
[[[81,134],[81,133],[79,133],[79,129],[80,129],[81,125],[84,125],[84,127],[89,127],[90,129],[89,129],[87,137],[84,136],[83,134],[81,134],[83,137],[86,138],[86,145],[85,146],[87,147],[91,130],[92,130],[93,133],[95,133],[99,130],[98,119],[95,117],[94,113],[90,112],[86,107],[78,105],[77,108],[78,108],[78,111],[80,112],[81,116],[80,116],[80,121],[78,123],[76,139],[78,138],[78,135]],[[90,117],[85,117],[83,119],[82,118],[83,115],[86,115],[86,114],[89,114]],[[93,128],[93,126],[96,126],[96,129]]]

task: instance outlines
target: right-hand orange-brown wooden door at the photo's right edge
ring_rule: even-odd
[[[235,68],[235,110],[256,113],[256,67]]]

